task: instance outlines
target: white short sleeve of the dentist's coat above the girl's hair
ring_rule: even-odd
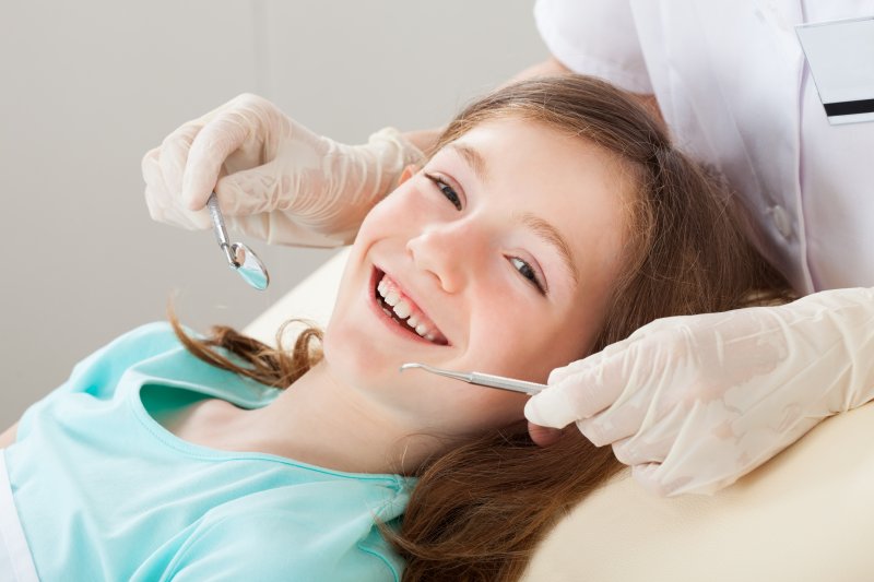
[[[538,0],[534,21],[546,47],[571,71],[652,94],[627,0]]]

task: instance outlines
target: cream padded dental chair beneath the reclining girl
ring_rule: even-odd
[[[290,317],[324,325],[346,256],[245,331],[274,344]],[[713,496],[656,497],[621,472],[553,528],[523,580],[874,580],[874,403],[826,419]]]

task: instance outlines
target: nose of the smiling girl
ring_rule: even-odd
[[[485,240],[474,225],[457,222],[429,225],[406,242],[413,263],[432,273],[447,293],[464,287],[485,252]]]

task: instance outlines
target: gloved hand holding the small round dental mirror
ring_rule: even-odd
[[[215,190],[228,228],[268,242],[336,246],[422,152],[391,128],[364,145],[316,135],[256,95],[235,97],[182,124],[142,161],[152,218],[189,229],[212,224]]]

